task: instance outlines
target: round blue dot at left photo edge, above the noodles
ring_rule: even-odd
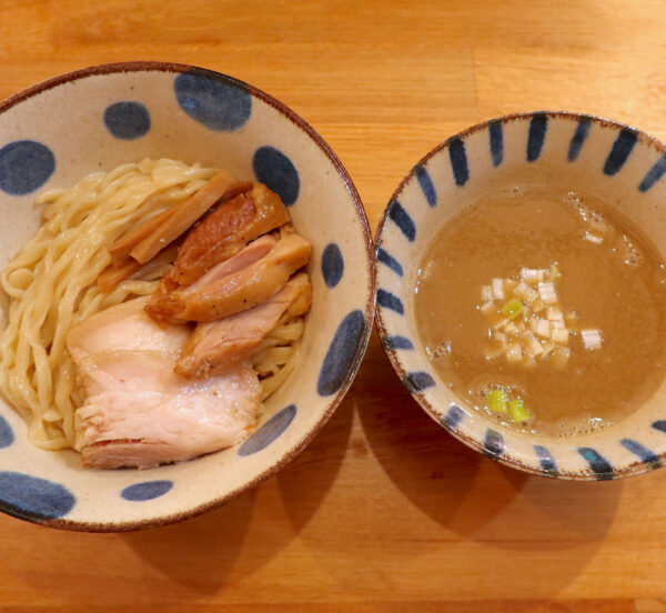
[[[56,170],[56,157],[41,142],[13,141],[0,149],[0,190],[26,195],[41,188]]]

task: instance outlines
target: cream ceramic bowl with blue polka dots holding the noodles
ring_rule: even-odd
[[[178,521],[256,485],[331,416],[361,363],[374,318],[372,237],[352,180],[293,111],[235,79],[181,64],[122,63],[59,77],[0,104],[2,265],[37,230],[32,203],[100,169],[144,158],[200,162],[278,192],[313,245],[295,373],[243,443],[153,470],[80,468],[73,451],[32,446],[0,403],[0,510],[50,526],[134,530]]]

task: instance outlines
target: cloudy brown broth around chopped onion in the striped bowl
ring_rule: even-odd
[[[608,225],[602,244],[585,240],[582,203]],[[582,329],[602,331],[601,349],[586,350],[581,335],[572,335],[562,371],[486,359],[482,285],[553,262],[562,271],[562,308],[576,312]],[[511,386],[533,414],[517,428],[571,435],[618,421],[660,385],[665,279],[662,261],[636,229],[597,200],[566,189],[513,188],[457,213],[430,245],[414,290],[416,324],[434,369],[470,404],[487,411],[483,390]]]

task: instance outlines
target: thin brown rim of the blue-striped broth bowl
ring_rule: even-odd
[[[517,112],[517,113],[501,115],[497,118],[492,118],[492,119],[482,121],[480,123],[475,123],[474,125],[471,125],[470,128],[466,128],[466,129],[448,137],[446,140],[442,141],[440,144],[437,144],[433,149],[431,149],[425,155],[423,155],[412,167],[410,172],[404,177],[404,179],[398,183],[397,188],[391,194],[391,198],[389,199],[389,202],[387,202],[386,207],[384,208],[384,211],[382,212],[382,217],[380,218],[380,222],[377,224],[377,229],[375,232],[375,239],[374,239],[375,282],[377,282],[379,265],[381,263],[377,259],[377,252],[379,252],[379,249],[382,247],[382,237],[383,237],[386,223],[389,221],[389,213],[391,210],[391,204],[398,199],[398,197],[401,195],[401,193],[403,192],[403,190],[407,185],[407,183],[410,183],[415,178],[416,170],[421,165],[425,165],[431,160],[431,158],[437,155],[443,150],[447,149],[452,142],[456,142],[458,140],[464,141],[471,134],[474,134],[475,132],[478,132],[482,130],[486,130],[490,125],[493,125],[493,124],[498,124],[498,123],[505,124],[505,123],[508,123],[512,121],[526,121],[526,120],[531,120],[535,115],[537,115],[537,117],[544,115],[544,117],[547,117],[548,119],[553,119],[553,118],[565,119],[565,120],[569,120],[569,121],[579,121],[581,119],[587,119],[588,121],[594,122],[603,128],[610,128],[614,130],[629,130],[637,135],[638,142],[646,144],[648,147],[652,147],[658,153],[666,154],[666,143],[664,141],[657,139],[656,137],[653,137],[653,135],[648,134],[647,132],[644,132],[643,130],[639,130],[638,128],[635,128],[628,123],[623,123],[620,121],[616,121],[613,119],[607,119],[607,118],[604,118],[601,115],[589,114],[589,113],[582,113],[582,112],[575,112],[575,111],[563,111],[563,110],[527,111],[527,112]],[[487,451],[485,450],[482,441],[461,432],[457,428],[452,428],[448,423],[446,423],[446,421],[440,419],[437,416],[437,413],[435,412],[433,405],[426,400],[425,395],[422,392],[418,392],[418,391],[414,390],[412,386],[410,386],[410,384],[407,383],[407,379],[406,379],[406,375],[407,375],[406,369],[403,366],[403,364],[397,355],[396,350],[389,346],[387,338],[390,336],[390,333],[389,333],[387,326],[382,318],[382,306],[381,305],[376,306],[375,328],[376,328],[380,339],[382,341],[382,346],[384,348],[384,351],[386,352],[386,355],[389,356],[389,361],[391,362],[391,365],[392,365],[393,370],[395,371],[395,373],[397,374],[402,384],[406,388],[406,390],[410,392],[412,398],[421,405],[421,409],[423,409],[423,411],[431,419],[433,419],[448,434],[451,434],[452,436],[457,439],[460,442],[462,442],[470,449],[477,451],[482,455],[484,455],[486,458],[491,458],[495,462],[498,462],[506,466],[511,466],[513,469],[517,469],[517,470],[528,473],[528,474],[534,474],[534,475],[548,478],[548,479],[558,479],[558,480],[563,480],[563,481],[589,482],[589,481],[599,481],[601,480],[599,475],[594,473],[591,469],[585,469],[585,470],[577,471],[577,472],[561,471],[559,469],[557,469],[556,472],[552,472],[552,471],[544,470],[542,466],[537,468],[536,465],[526,464],[525,462],[521,462],[519,460],[508,455],[506,452],[504,452],[502,454],[488,454]],[[607,480],[607,479],[612,479],[612,480],[625,479],[628,476],[634,476],[634,475],[643,474],[646,472],[650,472],[650,471],[666,464],[666,451],[658,454],[657,458],[660,460],[660,463],[657,465],[648,465],[645,462],[636,461],[636,462],[625,465],[622,469],[614,468],[613,472],[609,473],[609,475],[604,475],[604,479],[605,480]]]

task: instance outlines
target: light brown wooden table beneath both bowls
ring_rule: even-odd
[[[341,155],[373,228],[480,120],[569,109],[666,138],[666,2],[0,1],[0,97],[130,59],[246,80]],[[664,491],[662,491],[664,488]],[[346,400],[254,492],[129,534],[0,516],[2,611],[666,611],[666,470],[553,482],[468,451],[373,336]]]

